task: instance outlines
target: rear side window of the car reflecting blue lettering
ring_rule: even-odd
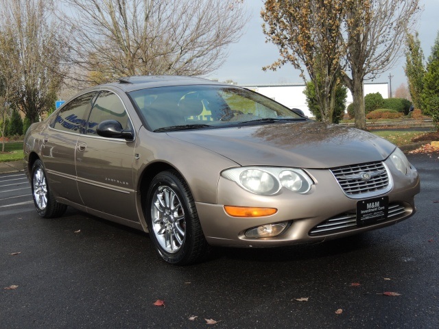
[[[84,114],[91,107],[93,93],[86,93],[70,101],[64,108],[58,112],[55,120],[50,123],[54,129],[63,130],[64,132],[81,133],[81,127],[84,125]]]

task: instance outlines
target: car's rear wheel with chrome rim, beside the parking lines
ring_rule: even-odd
[[[65,204],[56,201],[49,188],[43,162],[36,160],[31,171],[32,197],[36,212],[43,218],[60,217],[67,209]]]

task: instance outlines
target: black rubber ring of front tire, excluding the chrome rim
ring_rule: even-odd
[[[180,203],[182,204],[183,210],[185,212],[185,241],[183,241],[182,246],[176,253],[166,252],[166,250],[161,247],[156,238],[156,233],[152,228],[152,199],[154,198],[158,186],[169,186],[170,188],[172,188],[174,193],[176,193],[178,199],[180,199]],[[185,186],[182,186],[180,180],[176,177],[176,175],[169,171],[158,173],[158,175],[156,175],[152,180],[152,184],[147,192],[145,214],[147,219],[147,225],[150,230],[150,238],[152,239],[152,242],[154,243],[158,254],[160,254],[161,258],[163,258],[163,260],[165,260],[167,263],[185,263],[185,260],[191,254],[191,249],[193,248],[192,224],[193,216],[196,214],[193,214],[190,209],[191,205],[189,204],[189,195],[185,193]]]

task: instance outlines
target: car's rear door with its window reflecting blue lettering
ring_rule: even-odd
[[[41,136],[41,156],[56,197],[82,205],[76,184],[75,150],[96,92],[86,93],[65,104]]]

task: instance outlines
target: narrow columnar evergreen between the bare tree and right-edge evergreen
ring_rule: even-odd
[[[421,95],[423,93],[423,78],[425,75],[424,53],[420,48],[418,32],[415,35],[407,34],[405,40],[407,50],[405,51],[405,75],[409,84],[410,95],[412,96],[415,108],[422,109]]]

